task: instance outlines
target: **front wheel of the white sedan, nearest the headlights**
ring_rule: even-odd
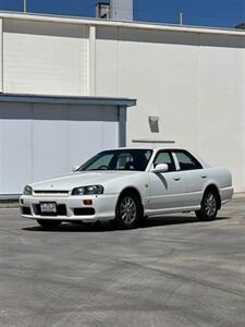
[[[119,229],[133,229],[139,226],[142,218],[140,203],[133,193],[124,193],[120,196],[115,209],[113,225]]]

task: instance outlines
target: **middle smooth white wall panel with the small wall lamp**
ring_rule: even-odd
[[[167,34],[139,34],[138,48],[133,47],[133,32],[122,32],[123,41],[120,43],[120,72],[121,92],[131,94],[135,88],[140,94],[139,108],[140,125],[144,135],[139,130],[134,129],[134,122],[139,112],[128,111],[128,131],[132,131],[132,138],[146,137],[166,141],[179,141],[189,143],[198,140],[198,124],[191,124],[188,132],[184,132],[183,121],[194,120],[198,117],[197,108],[197,78],[195,68],[198,65],[197,49],[193,43],[198,36],[189,35],[186,39],[180,39],[180,35]],[[176,38],[176,40],[175,40]],[[183,44],[180,44],[180,40]],[[170,43],[171,41],[171,43]],[[176,41],[177,44],[174,44]],[[130,49],[131,48],[131,49]],[[127,55],[126,55],[127,53]],[[130,69],[133,78],[125,74],[127,62],[131,60]],[[132,95],[133,96],[133,95]],[[159,133],[152,133],[149,128],[148,117],[159,116]],[[138,121],[138,120],[137,120]],[[133,137],[132,137],[133,136]]]

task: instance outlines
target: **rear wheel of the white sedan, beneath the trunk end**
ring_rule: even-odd
[[[196,211],[196,217],[204,221],[213,220],[218,213],[218,203],[217,192],[213,190],[207,190],[201,199],[200,210]]]

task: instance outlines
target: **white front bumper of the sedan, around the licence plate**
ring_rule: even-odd
[[[83,195],[83,196],[35,196],[20,197],[21,216],[29,219],[62,221],[107,221],[114,219],[118,194]],[[91,201],[85,205],[84,201]],[[57,213],[42,214],[40,203],[56,203]]]

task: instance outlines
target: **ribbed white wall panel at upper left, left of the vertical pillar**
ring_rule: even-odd
[[[4,20],[4,92],[87,95],[88,28]]]

